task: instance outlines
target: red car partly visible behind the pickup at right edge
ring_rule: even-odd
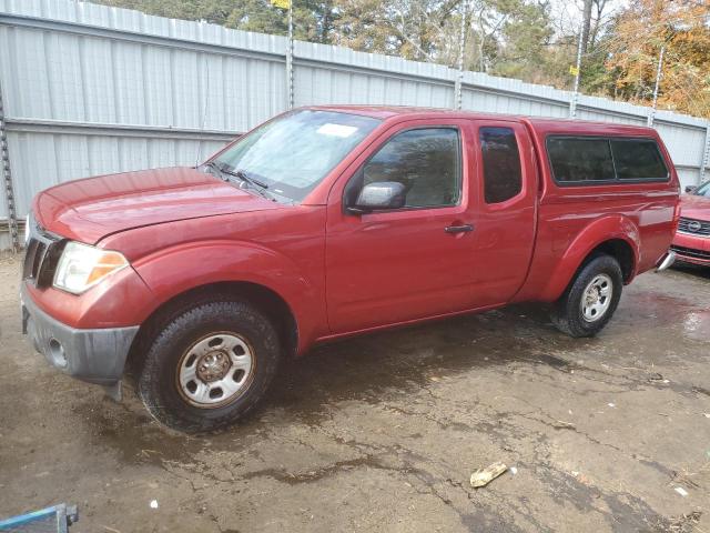
[[[680,197],[680,220],[671,250],[687,263],[710,266],[710,181]]]

